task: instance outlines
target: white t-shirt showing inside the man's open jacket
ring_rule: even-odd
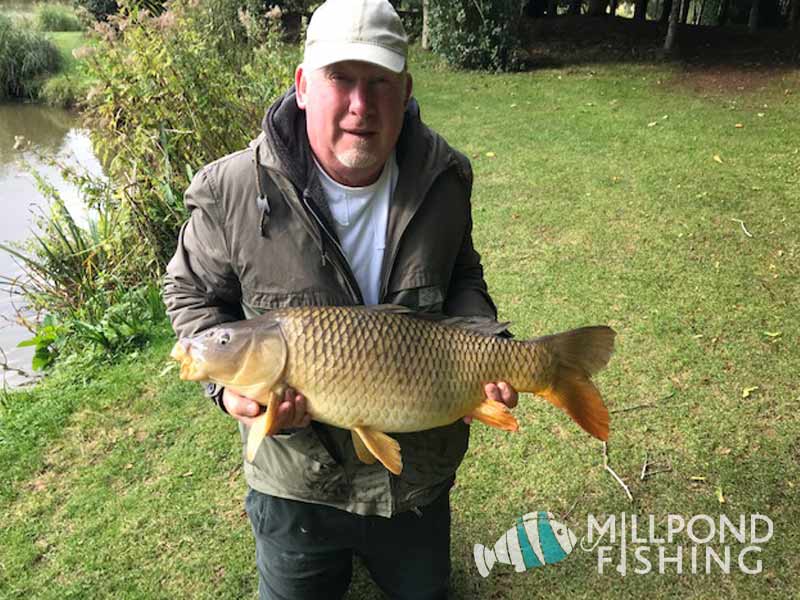
[[[336,235],[361,288],[364,303],[378,304],[389,202],[398,176],[394,152],[378,180],[366,187],[342,185],[331,179],[316,159],[314,162],[333,216]]]

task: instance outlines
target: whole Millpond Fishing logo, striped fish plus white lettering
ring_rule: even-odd
[[[761,553],[772,539],[774,524],[761,514],[590,513],[585,531],[578,541],[552,513],[527,513],[493,547],[475,544],[475,565],[482,577],[488,577],[496,563],[522,572],[561,562],[580,549],[596,555],[599,575],[758,575],[764,568]]]

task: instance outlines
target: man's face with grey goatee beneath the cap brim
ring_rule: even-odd
[[[344,185],[369,185],[397,143],[411,96],[411,76],[359,61],[295,73],[297,105],[306,111],[311,149]]]

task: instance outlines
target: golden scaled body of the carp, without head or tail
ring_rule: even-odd
[[[547,362],[535,345],[390,312],[308,308],[272,316],[288,348],[286,383],[302,390],[317,420],[338,427],[446,425],[484,400],[485,383],[528,389],[530,367]]]

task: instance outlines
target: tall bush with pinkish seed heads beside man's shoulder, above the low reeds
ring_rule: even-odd
[[[112,180],[135,181],[115,191],[137,249],[129,276],[158,277],[186,216],[191,174],[247,144],[266,102],[290,84],[294,57],[277,45],[226,51],[225,28],[206,4],[177,3],[158,18],[122,10],[88,59],[99,85],[85,112]]]

